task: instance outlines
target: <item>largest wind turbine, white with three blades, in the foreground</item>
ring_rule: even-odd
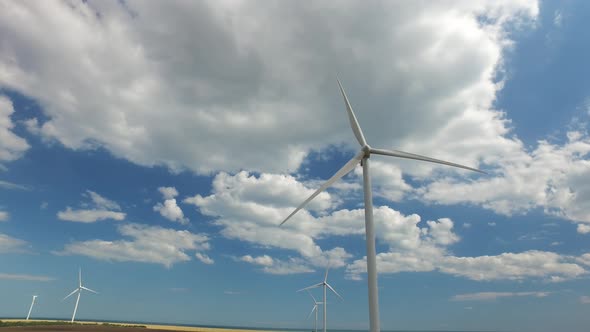
[[[328,181],[326,181],[318,190],[316,190],[311,196],[309,196],[301,205],[299,205],[295,211],[291,212],[291,214],[285,218],[281,222],[281,225],[284,224],[287,220],[289,220],[297,211],[301,210],[307,203],[309,203],[312,199],[314,199],[317,195],[319,195],[322,191],[326,190],[329,186],[331,186],[334,182],[345,176],[346,174],[350,173],[359,163],[363,166],[363,190],[365,196],[365,234],[366,234],[366,241],[367,241],[367,279],[369,284],[369,321],[370,321],[370,328],[371,332],[379,332],[381,329],[379,327],[379,297],[377,293],[377,254],[375,252],[375,229],[373,225],[373,198],[371,193],[371,177],[369,173],[369,158],[371,154],[379,154],[384,156],[390,157],[397,157],[397,158],[405,158],[405,159],[414,159],[420,161],[427,161],[436,164],[443,164],[447,166],[453,166],[458,168],[467,169],[470,171],[475,171],[479,173],[484,173],[475,168],[451,163],[444,160],[434,159],[430,157],[425,157],[413,153],[403,152],[399,150],[384,150],[384,149],[374,149],[365,140],[365,136],[363,135],[363,131],[354,115],[352,110],[352,106],[350,106],[350,102],[348,101],[348,97],[346,97],[346,92],[344,92],[344,88],[338,80],[338,86],[340,86],[340,92],[342,93],[342,97],[344,98],[344,103],[346,105],[346,111],[348,113],[348,121],[350,122],[350,126],[352,128],[352,132],[356,137],[356,140],[361,145],[361,150],[359,153],[354,156],[350,161],[348,161],[336,174],[334,174]],[[325,300],[324,300],[325,301]],[[325,306],[325,302],[324,302]],[[325,314],[325,313],[324,313]],[[325,321],[324,321],[324,330],[325,330]]]

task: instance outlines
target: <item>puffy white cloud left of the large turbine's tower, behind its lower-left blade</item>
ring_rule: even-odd
[[[313,191],[291,176],[220,173],[213,180],[210,196],[196,195],[184,202],[195,205],[204,215],[215,217],[214,223],[221,227],[221,235],[226,238],[294,250],[302,256],[275,261],[272,268],[265,269],[269,273],[309,272],[313,266],[326,264],[342,267],[351,255],[339,247],[322,250],[315,239],[328,234],[364,232],[362,220],[356,218],[357,211],[326,215],[325,209],[334,202],[331,195],[320,194],[312,204],[317,219],[308,211],[301,211],[292,222],[278,227],[282,218]]]

